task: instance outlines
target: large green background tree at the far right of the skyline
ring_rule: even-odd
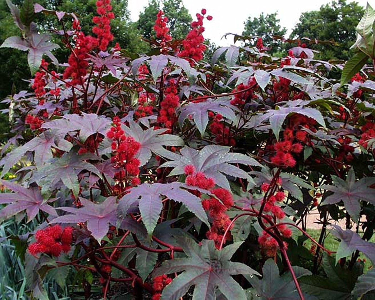
[[[314,47],[320,51],[317,57],[323,60],[347,60],[351,56],[349,48],[356,41],[356,26],[363,12],[363,7],[357,2],[332,1],[322,5],[320,10],[302,13],[291,38],[333,39],[335,45],[320,43]]]

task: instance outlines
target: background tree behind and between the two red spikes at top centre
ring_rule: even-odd
[[[146,38],[150,38],[153,33],[153,27],[157,12],[162,9],[165,16],[168,17],[168,27],[174,39],[183,39],[190,30],[192,17],[182,3],[182,0],[164,0],[161,5],[158,0],[150,0],[144,11],[139,13],[137,28]]]

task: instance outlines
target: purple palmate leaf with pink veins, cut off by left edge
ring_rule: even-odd
[[[0,193],[0,204],[10,203],[0,210],[0,220],[8,219],[23,210],[26,210],[27,222],[34,219],[39,210],[57,216],[55,209],[48,205],[48,202],[53,202],[55,199],[43,201],[39,187],[26,188],[6,180],[0,180],[0,183],[14,192]]]

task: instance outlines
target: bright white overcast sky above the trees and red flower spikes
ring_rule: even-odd
[[[184,6],[189,10],[193,19],[197,12],[202,8],[207,9],[207,15],[212,15],[213,20],[204,21],[204,37],[210,39],[218,46],[228,46],[233,43],[233,36],[227,39],[221,37],[227,33],[241,34],[244,28],[244,22],[248,17],[259,17],[261,12],[278,12],[281,27],[286,27],[288,33],[294,28],[302,12],[310,10],[319,10],[321,5],[331,3],[327,0],[183,0]],[[347,0],[347,3],[352,0]],[[366,0],[357,0],[360,5],[366,6]],[[375,0],[369,0],[374,7]],[[128,9],[132,21],[138,20],[139,12],[148,6],[148,0],[128,0]]]

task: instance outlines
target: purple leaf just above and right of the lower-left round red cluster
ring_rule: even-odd
[[[53,219],[51,223],[77,223],[87,221],[87,229],[90,230],[92,236],[100,243],[103,237],[108,233],[109,224],[116,225],[116,197],[108,197],[100,204],[93,203],[84,198],[80,198],[80,201],[84,205],[84,208],[58,207],[58,209],[68,211],[72,214],[57,217]]]

